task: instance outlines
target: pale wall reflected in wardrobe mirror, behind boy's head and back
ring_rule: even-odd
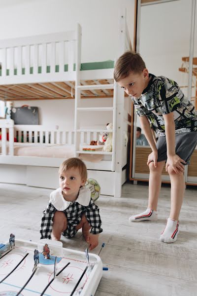
[[[189,56],[192,0],[141,7],[140,53],[150,73],[187,83],[178,70]]]

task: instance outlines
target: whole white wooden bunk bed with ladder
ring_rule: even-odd
[[[131,50],[131,42],[126,24],[126,12],[119,17],[119,48],[117,56],[125,50]],[[48,47],[50,44],[50,47]],[[57,50],[58,44],[58,50]],[[23,71],[22,61],[25,54],[25,71]],[[41,51],[40,51],[41,48]],[[47,48],[50,48],[47,50]],[[1,40],[0,49],[2,52],[0,95],[3,97],[2,87],[5,88],[4,95],[8,96],[8,89],[13,89],[13,85],[25,85],[28,87],[33,83],[60,83],[65,81],[75,81],[75,113],[74,131],[64,129],[53,130],[50,127],[41,125],[14,125],[11,119],[0,119],[1,129],[1,152],[0,152],[0,182],[26,184],[30,186],[57,188],[58,167],[65,157],[45,157],[45,156],[21,156],[17,155],[15,147],[33,145],[48,148],[49,150],[59,145],[70,146],[73,156],[83,158],[85,154],[100,155],[99,162],[85,161],[88,169],[88,177],[98,180],[101,186],[101,194],[121,196],[122,184],[126,181],[126,165],[128,159],[128,111],[124,110],[124,92],[117,87],[117,84],[109,83],[113,81],[113,68],[80,71],[81,66],[81,27],[78,24],[76,31],[49,34],[34,37],[15,38]],[[16,50],[17,49],[17,50]],[[65,71],[65,50],[68,57]],[[33,56],[31,52],[33,51]],[[75,51],[75,54],[74,54]],[[37,69],[40,65],[41,71]],[[7,55],[9,54],[9,74],[7,73]],[[17,55],[17,56],[16,56]],[[59,71],[56,70],[56,59],[58,55]],[[30,63],[33,59],[33,73],[30,74]],[[49,61],[48,61],[49,60]],[[17,67],[16,67],[17,65]],[[75,66],[76,65],[76,66]],[[47,73],[47,66],[50,72]],[[75,71],[74,70],[75,67]],[[87,84],[88,80],[94,80],[95,84]],[[84,82],[86,81],[86,82]],[[106,81],[103,82],[103,81]],[[101,84],[99,84],[101,83]],[[104,83],[104,84],[103,84]],[[48,85],[48,84],[47,84]],[[1,87],[2,86],[2,87]],[[84,91],[113,90],[113,107],[84,107]],[[10,95],[11,96],[11,95]],[[11,100],[11,99],[10,99]],[[98,139],[99,133],[104,129],[86,128],[80,126],[80,114],[83,112],[105,112],[113,113],[113,147],[112,152],[105,151],[83,151],[84,143]],[[6,134],[9,133],[9,141]],[[18,135],[18,142],[23,135],[23,143],[14,143],[14,135]],[[43,143],[43,135],[45,140]],[[39,141],[38,141],[39,136]],[[116,141],[116,139],[118,139]],[[28,143],[27,143],[28,142]],[[34,142],[34,143],[33,143]],[[65,148],[66,149],[66,148]]]

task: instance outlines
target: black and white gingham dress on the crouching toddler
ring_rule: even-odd
[[[75,226],[79,224],[83,214],[85,214],[87,221],[89,222],[90,226],[92,226],[92,229],[90,231],[92,234],[98,234],[102,232],[101,219],[99,215],[98,206],[95,205],[94,201],[91,198],[90,198],[89,205],[87,206],[81,205],[80,203],[77,202],[77,200],[78,198],[75,201],[70,202],[69,206],[63,211],[67,218],[67,228],[62,234],[69,238],[74,236],[77,232],[77,230],[75,229]],[[51,239],[53,217],[56,211],[57,209],[50,201],[46,209],[43,211],[41,226],[40,226],[40,234],[41,234],[40,238]]]

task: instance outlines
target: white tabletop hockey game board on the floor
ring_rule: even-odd
[[[49,240],[47,240],[49,241]],[[51,240],[49,241],[52,242]],[[6,242],[5,244],[9,244]],[[0,248],[0,252],[2,253]],[[29,253],[23,262],[2,283],[0,296],[16,296],[23,285],[32,275],[34,266],[34,249],[39,250],[38,244],[31,241],[15,240],[15,247],[10,253],[0,259],[0,281]],[[40,250],[39,250],[40,251]],[[77,281],[87,266],[85,252],[62,248],[62,256],[57,258],[57,273],[68,263],[64,271],[54,279],[48,287],[45,296],[70,296]],[[50,258],[44,259],[39,254],[38,269],[33,278],[21,292],[20,296],[38,296],[54,276],[56,252],[50,248]],[[0,254],[1,257],[1,254]],[[74,296],[94,296],[102,277],[102,261],[99,256],[89,254],[90,266],[79,283]],[[93,267],[94,266],[94,267]]]

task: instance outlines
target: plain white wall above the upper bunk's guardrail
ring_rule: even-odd
[[[0,39],[69,31],[78,22],[82,62],[114,60],[122,8],[132,41],[134,0],[1,0]]]

